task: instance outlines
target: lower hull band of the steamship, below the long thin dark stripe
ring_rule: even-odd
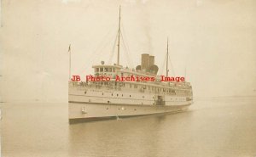
[[[166,115],[182,112],[188,109],[190,104],[191,101],[179,105],[93,104],[69,101],[69,124],[145,115]]]

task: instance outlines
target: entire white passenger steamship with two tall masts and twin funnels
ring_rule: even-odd
[[[120,9],[119,30],[120,35]],[[119,37],[119,36],[118,36]],[[142,54],[136,69],[119,64],[93,65],[94,76],[108,76],[110,81],[69,81],[69,122],[102,121],[139,115],[159,115],[188,109],[193,101],[192,87],[187,81],[160,81],[154,56]],[[166,53],[168,76],[168,42]],[[154,81],[115,81],[115,76],[154,77]]]

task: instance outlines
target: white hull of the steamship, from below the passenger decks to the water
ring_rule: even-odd
[[[96,96],[84,96],[79,94],[69,94],[69,122],[76,123],[81,121],[102,121],[108,119],[116,119],[119,117],[131,117],[141,115],[166,114],[171,112],[179,112],[188,109],[192,101],[186,101],[184,98],[174,98],[172,101],[166,102],[165,105],[156,105],[154,100],[137,99],[137,98],[104,98]],[[128,93],[130,95],[130,93]],[[105,94],[107,95],[107,94]],[[127,95],[124,94],[124,96]],[[134,95],[134,94],[133,94]],[[145,95],[145,98],[152,98],[154,93],[142,94],[137,93],[137,97]],[[134,96],[135,97],[135,96]],[[136,102],[133,104],[118,104],[119,101]],[[171,99],[171,98],[170,98]],[[111,103],[113,102],[113,103]]]

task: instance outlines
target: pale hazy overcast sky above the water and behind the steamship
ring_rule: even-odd
[[[115,63],[119,5],[123,65],[150,53],[160,75],[168,36],[171,75],[195,97],[256,95],[255,0],[2,0],[2,101],[67,102],[69,44],[73,75]]]

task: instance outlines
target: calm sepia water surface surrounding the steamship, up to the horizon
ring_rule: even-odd
[[[183,113],[69,125],[67,104],[1,104],[3,156],[255,157],[256,98]]]

